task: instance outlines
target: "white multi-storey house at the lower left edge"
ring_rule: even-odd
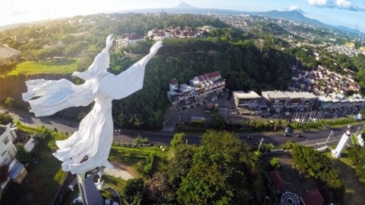
[[[18,139],[16,128],[11,127],[11,124],[0,125],[0,165],[9,166],[9,177],[5,182],[0,184],[0,188],[4,189],[10,180],[21,184],[27,171],[21,162],[15,160],[16,145],[13,144]]]

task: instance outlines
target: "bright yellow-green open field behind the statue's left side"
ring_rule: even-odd
[[[46,61],[26,61],[16,65],[6,76],[17,74],[67,74],[76,70],[79,59],[57,59]]]

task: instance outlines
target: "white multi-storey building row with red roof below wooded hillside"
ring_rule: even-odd
[[[199,75],[189,80],[188,84],[180,84],[176,79],[169,82],[169,91],[167,99],[172,104],[178,104],[188,99],[198,99],[209,96],[210,94],[219,94],[225,88],[225,79],[218,71]],[[189,104],[189,102],[186,102]]]

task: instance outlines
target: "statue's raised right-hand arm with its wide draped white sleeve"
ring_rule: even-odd
[[[112,99],[123,99],[134,92],[142,89],[143,79],[145,77],[145,66],[157,54],[162,47],[162,41],[157,41],[150,49],[150,53],[138,62],[135,62],[128,70],[118,75],[110,75],[102,81],[102,87],[99,90],[111,97]]]

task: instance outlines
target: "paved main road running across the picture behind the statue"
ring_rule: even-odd
[[[64,133],[73,133],[77,131],[79,126],[78,121],[69,121],[60,118],[52,118],[52,117],[41,117],[35,118],[33,113],[28,113],[26,111],[14,111],[11,113],[11,116],[15,120],[21,121],[29,126],[45,126],[47,128],[57,128],[58,131],[63,131]],[[359,126],[354,126],[354,132],[356,132]],[[118,130],[118,129],[117,129]],[[333,131],[333,136],[328,141],[329,145],[336,145],[341,138],[346,128],[336,128]],[[287,140],[294,140],[297,143],[305,143],[305,145],[312,145],[314,148],[320,148],[325,145],[325,141],[327,140],[328,135],[330,135],[330,129],[325,128],[322,131],[308,131],[300,133],[305,136],[305,138],[296,138],[296,134],[300,132],[291,133],[292,137],[285,137],[283,133],[253,133],[253,134],[241,134],[240,138],[245,140],[249,144],[257,144],[259,140],[264,139],[263,143],[272,143],[273,145],[282,145],[286,143]],[[114,135],[114,141],[120,142],[125,141],[131,143],[137,135],[141,135],[143,138],[148,138],[150,143],[154,144],[169,144],[174,132],[171,131],[159,131],[159,132],[137,132],[137,131],[128,131],[128,130],[120,130]],[[247,140],[247,135],[252,136],[252,140]],[[199,135],[187,135],[186,136],[188,143],[198,144],[200,143]],[[308,141],[306,141],[308,139]]]

